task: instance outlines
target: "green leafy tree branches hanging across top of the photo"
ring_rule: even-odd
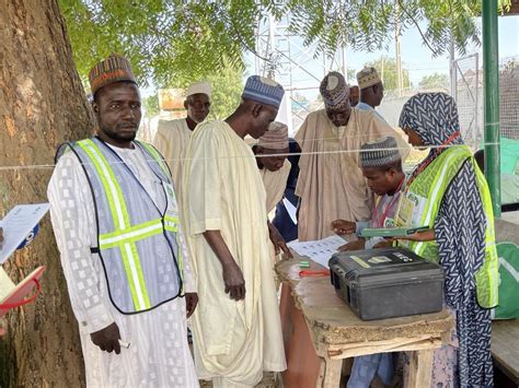
[[[78,70],[88,72],[112,52],[128,57],[139,82],[177,86],[243,67],[255,33],[269,14],[288,15],[289,32],[315,54],[384,49],[417,27],[435,55],[451,37],[460,52],[478,44],[480,0],[59,0]],[[510,0],[499,0],[501,9]],[[275,66],[274,66],[275,67]]]

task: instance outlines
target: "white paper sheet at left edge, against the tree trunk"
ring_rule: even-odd
[[[16,250],[48,209],[48,203],[18,204],[0,221],[0,227],[3,228],[0,264]]]

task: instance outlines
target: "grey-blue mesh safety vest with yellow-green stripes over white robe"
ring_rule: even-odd
[[[89,180],[97,222],[97,246],[91,250],[101,258],[111,301],[123,314],[152,309],[183,293],[180,222],[171,174],[155,149],[135,143],[164,191],[163,209],[100,139],[66,144]]]

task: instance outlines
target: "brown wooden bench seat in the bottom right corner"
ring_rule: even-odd
[[[492,356],[496,366],[519,385],[519,319],[492,322]]]

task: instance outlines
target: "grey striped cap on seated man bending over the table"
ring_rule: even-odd
[[[401,160],[399,143],[393,137],[384,137],[360,146],[361,167],[385,167]]]

